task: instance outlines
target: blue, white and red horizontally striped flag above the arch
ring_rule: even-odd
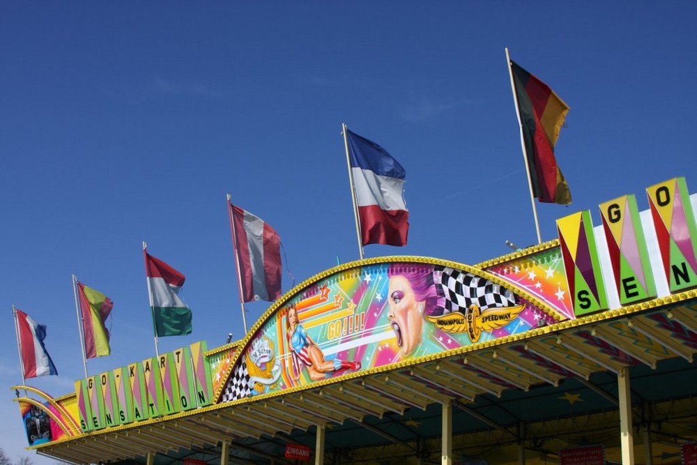
[[[406,245],[406,171],[384,148],[346,129],[362,245]]]

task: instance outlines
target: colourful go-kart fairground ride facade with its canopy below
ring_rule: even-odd
[[[325,270],[239,342],[12,386],[75,464],[697,463],[696,196],[684,178],[475,266]]]

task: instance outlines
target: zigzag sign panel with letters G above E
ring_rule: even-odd
[[[622,305],[656,297],[646,239],[634,195],[600,204],[600,214]]]

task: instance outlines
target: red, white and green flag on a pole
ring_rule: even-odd
[[[191,310],[179,298],[184,275],[145,250],[143,252],[155,335],[163,337],[191,334]]]

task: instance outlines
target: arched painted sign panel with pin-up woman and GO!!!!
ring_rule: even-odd
[[[339,266],[277,300],[250,331],[215,397],[227,402],[305,386],[563,319],[484,270],[398,260]]]

